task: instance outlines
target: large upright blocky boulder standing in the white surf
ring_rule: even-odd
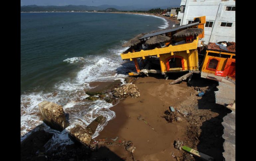
[[[43,121],[51,128],[62,131],[69,125],[61,105],[43,101],[38,107]]]

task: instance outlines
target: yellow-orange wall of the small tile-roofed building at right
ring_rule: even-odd
[[[206,50],[206,54],[205,54],[205,57],[204,57],[204,60],[203,60],[203,66],[202,66],[202,72],[206,72],[206,73],[209,71],[208,69],[206,69],[209,58],[220,59],[220,62],[219,62],[219,64],[218,64],[218,67],[217,67],[216,70],[221,70],[221,71],[224,70],[224,67],[225,67],[225,65],[226,65],[226,61],[227,61],[227,59],[228,59],[228,58],[222,58],[222,57],[216,57],[216,56],[209,56],[209,55],[208,55],[208,52],[231,55],[230,58],[232,58],[232,56],[235,56],[235,54],[233,54],[233,53]]]

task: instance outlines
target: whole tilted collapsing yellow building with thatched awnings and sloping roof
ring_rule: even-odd
[[[194,18],[194,23],[140,34],[126,42],[123,47],[130,47],[121,53],[121,58],[134,61],[137,71],[129,75],[162,73],[168,78],[169,72],[199,73],[197,47],[201,44],[199,38],[204,37],[204,24],[205,16],[202,16]],[[144,64],[142,69],[137,58]],[[145,59],[159,61],[160,69],[150,69]]]

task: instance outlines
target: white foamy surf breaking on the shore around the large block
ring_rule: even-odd
[[[120,42],[124,43],[124,40]],[[111,111],[113,105],[105,100],[96,100],[94,102],[84,101],[88,95],[86,89],[90,89],[89,83],[94,81],[121,80],[125,84],[124,78],[127,76],[127,68],[134,68],[133,62],[122,61],[120,53],[128,48],[116,46],[110,48],[101,56],[87,55],[83,59],[79,57],[68,58],[66,62],[74,63],[76,60],[82,60],[84,67],[77,73],[74,79],[66,79],[55,84],[50,92],[33,92],[21,95],[21,141],[31,134],[31,131],[38,130],[39,125],[47,132],[54,133],[54,136],[45,145],[49,150],[55,150],[57,147],[73,144],[68,138],[68,132],[76,124],[84,128],[97,118],[99,115],[106,117],[106,121],[99,125],[92,138],[99,135],[108,121],[115,118],[115,112]],[[118,56],[117,56],[118,55]],[[122,64],[125,63],[123,66]],[[79,77],[80,76],[80,77]],[[38,104],[42,101],[50,101],[62,105],[64,112],[69,114],[69,126],[62,132],[51,129],[41,120]],[[41,126],[40,126],[41,127]]]

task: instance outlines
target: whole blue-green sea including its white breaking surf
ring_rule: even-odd
[[[88,125],[97,116],[115,117],[112,104],[86,101],[90,82],[120,79],[123,83],[131,61],[122,61],[122,44],[140,33],[168,27],[156,16],[111,13],[21,13],[21,141],[37,126],[53,132],[46,145],[72,144],[68,131]],[[125,63],[126,62],[126,63]],[[125,64],[124,64],[125,63]],[[38,110],[42,101],[60,104],[69,114],[63,132],[47,127]]]

